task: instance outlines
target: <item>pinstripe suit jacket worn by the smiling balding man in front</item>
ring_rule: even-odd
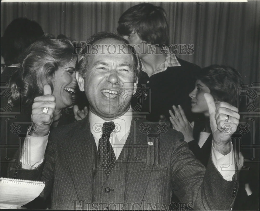
[[[73,200],[94,203],[92,182],[97,147],[89,128],[88,115],[55,128],[39,170],[18,171],[17,178],[45,181],[40,196],[46,197],[52,191],[53,209],[74,209]],[[181,202],[194,203],[195,210],[231,209],[233,189],[238,188],[237,173],[232,181],[224,180],[212,160],[205,169],[180,132],[135,116],[124,148],[128,150],[127,156],[120,155],[126,162],[124,200],[115,199],[115,203],[128,203],[128,209],[167,209],[173,190]],[[85,204],[84,209],[88,208]]]

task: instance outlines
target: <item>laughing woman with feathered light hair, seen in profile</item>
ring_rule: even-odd
[[[36,116],[40,120],[51,114],[52,118],[48,120],[51,127],[48,130],[58,124],[74,121],[74,115],[69,118],[64,113],[65,108],[72,106],[72,95],[77,87],[77,55],[73,55],[73,52],[74,45],[70,40],[46,35],[25,50],[20,68],[8,81],[1,83],[5,93],[5,96],[1,96],[1,176],[6,176],[4,164],[13,162],[13,155],[19,151],[17,149],[21,149],[31,126],[31,118]],[[43,99],[47,98],[49,109],[44,117],[39,116],[38,113],[42,113],[47,106],[43,103]],[[13,118],[10,118],[10,114]],[[35,130],[40,130],[40,127],[38,124]],[[19,160],[16,158],[17,165]]]

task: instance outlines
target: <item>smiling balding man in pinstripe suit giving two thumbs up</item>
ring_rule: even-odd
[[[44,119],[51,118],[51,112],[42,112],[42,118],[33,116],[41,131],[31,133],[30,143],[25,142],[24,149],[34,153],[30,165],[20,167],[29,171],[10,171],[10,176],[43,180],[46,186],[40,197],[51,192],[52,209],[176,208],[170,204],[172,190],[189,208],[231,209],[237,173],[222,124],[229,115],[236,131],[235,108],[226,103],[216,108],[213,98],[205,96],[214,131],[212,156],[205,169],[180,132],[132,111],[140,63],[125,39],[109,32],[93,35],[79,53],[76,67],[89,114],[55,128],[49,139],[42,131],[49,127]],[[26,155],[22,160],[28,159]],[[31,171],[35,167],[38,171]]]

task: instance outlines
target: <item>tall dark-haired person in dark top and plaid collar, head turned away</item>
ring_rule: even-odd
[[[132,6],[119,18],[117,31],[134,47],[142,63],[133,109],[158,122],[169,118],[172,105],[180,104],[188,119],[194,119],[188,94],[199,67],[177,58],[169,49],[164,9],[150,3]]]

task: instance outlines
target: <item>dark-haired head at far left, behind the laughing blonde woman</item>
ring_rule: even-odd
[[[27,18],[16,18],[6,27],[1,37],[1,78],[4,81],[22,62],[24,51],[43,34],[41,26]],[[3,67],[7,67],[5,71],[2,58]]]

